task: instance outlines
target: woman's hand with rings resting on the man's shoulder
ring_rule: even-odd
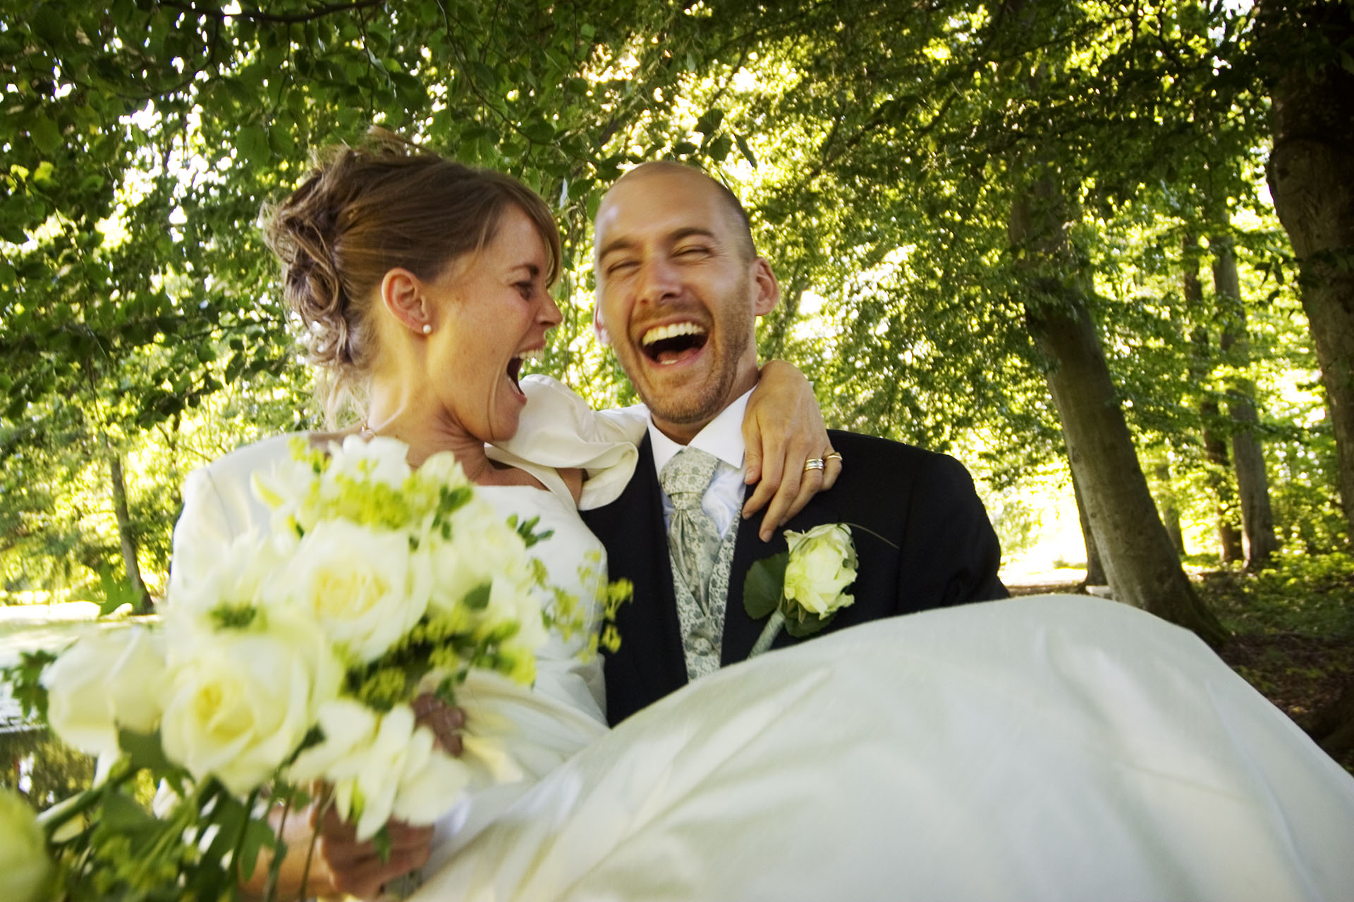
[[[746,481],[758,483],[743,504],[743,517],[770,502],[760,531],[762,541],[769,541],[808,499],[831,488],[842,468],[839,457],[827,457],[833,445],[814,387],[792,364],[773,360],[762,366],[743,415],[743,440]],[[806,471],[804,464],[818,457],[823,469]]]

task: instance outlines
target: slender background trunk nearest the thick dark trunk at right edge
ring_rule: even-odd
[[[1224,211],[1223,218],[1225,216]],[[1246,337],[1246,307],[1242,304],[1242,281],[1236,273],[1232,237],[1215,235],[1209,241],[1209,250],[1213,252],[1215,302],[1224,323],[1219,348],[1233,369],[1244,371],[1250,364],[1250,341]],[[1232,464],[1236,472],[1236,494],[1242,502],[1246,569],[1255,571],[1269,564],[1278,550],[1269,499],[1269,477],[1265,473],[1265,452],[1255,434],[1259,423],[1254,402],[1255,385],[1246,377],[1229,379],[1227,396],[1227,412],[1233,423]]]

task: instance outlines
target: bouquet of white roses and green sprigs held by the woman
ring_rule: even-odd
[[[387,820],[429,824],[477,778],[513,778],[474,722],[462,757],[445,755],[410,702],[454,703],[471,668],[531,683],[547,630],[581,629],[578,599],[539,591],[535,521],[505,521],[451,454],[414,471],[405,453],[297,440],[255,479],[269,527],[176,571],[161,623],[11,672],[16,698],[100,763],[93,788],[39,818],[57,865],[45,895],[221,898],[276,848],[269,813],[313,787],[379,845]]]

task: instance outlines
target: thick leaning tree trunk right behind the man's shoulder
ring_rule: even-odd
[[[1016,173],[1017,179],[1020,173]],[[1194,630],[1224,632],[1204,607],[1156,514],[1109,365],[1086,308],[1067,237],[1066,201],[1044,173],[1011,203],[1010,238],[1021,266],[1025,319],[1053,362],[1045,375],[1063,423],[1067,457],[1086,502],[1114,598]],[[1067,279],[1074,276],[1074,279]]]

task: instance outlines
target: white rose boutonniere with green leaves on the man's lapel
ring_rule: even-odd
[[[743,610],[766,626],[749,657],[770,648],[781,627],[812,636],[854,602],[856,544],[846,523],[823,523],[806,533],[785,530],[788,550],[753,564],[743,580]]]

